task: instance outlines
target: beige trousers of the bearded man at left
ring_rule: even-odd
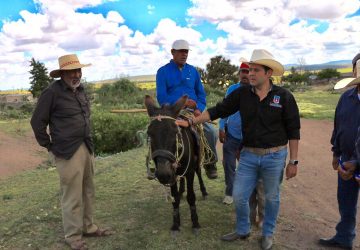
[[[54,159],[60,175],[65,240],[72,242],[81,239],[83,233],[93,233],[98,229],[93,223],[95,159],[85,143],[69,160],[56,156]]]

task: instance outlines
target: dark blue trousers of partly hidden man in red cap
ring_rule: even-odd
[[[223,167],[225,173],[225,195],[232,196],[233,183],[236,169],[236,151],[242,146],[242,140],[239,140],[229,133],[226,134],[226,140],[223,144]]]

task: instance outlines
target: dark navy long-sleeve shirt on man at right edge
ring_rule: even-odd
[[[336,106],[331,144],[334,155],[348,161],[353,158],[355,138],[360,126],[360,100],[357,88],[345,91]]]

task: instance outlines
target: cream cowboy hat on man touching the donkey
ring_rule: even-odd
[[[251,55],[249,63],[265,65],[273,70],[273,76],[282,76],[284,66],[274,59],[274,56],[267,50],[255,49]]]

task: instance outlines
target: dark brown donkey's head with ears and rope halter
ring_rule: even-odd
[[[145,106],[151,122],[147,133],[150,137],[151,156],[155,162],[155,176],[161,184],[176,182],[177,142],[181,137],[180,129],[175,120],[184,107],[187,96],[179,98],[174,105],[156,107],[154,100],[146,95]]]

